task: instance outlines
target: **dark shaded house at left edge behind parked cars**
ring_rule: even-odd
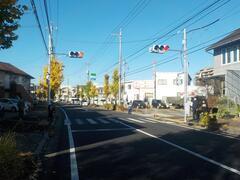
[[[10,63],[0,62],[0,97],[22,96],[30,97],[30,82],[32,76]]]

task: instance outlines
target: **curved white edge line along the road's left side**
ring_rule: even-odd
[[[77,167],[77,158],[76,158],[76,150],[75,150],[75,145],[74,145],[74,140],[72,136],[72,130],[71,130],[71,123],[68,118],[68,115],[66,111],[63,108],[60,108],[64,115],[65,115],[65,125],[67,126],[68,130],[68,139],[69,139],[69,152],[70,152],[70,167],[71,167],[71,180],[79,180],[79,175],[78,175],[78,167]]]

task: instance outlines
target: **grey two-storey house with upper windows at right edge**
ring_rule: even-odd
[[[240,28],[209,46],[213,51],[214,93],[240,103]]]

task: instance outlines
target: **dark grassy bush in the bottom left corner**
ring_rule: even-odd
[[[15,135],[0,137],[0,179],[19,179],[24,174],[24,162],[16,148]]]

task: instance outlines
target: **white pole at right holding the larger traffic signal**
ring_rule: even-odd
[[[187,59],[187,31],[183,30],[183,60],[184,60],[184,122],[187,123],[188,101],[188,59]]]

